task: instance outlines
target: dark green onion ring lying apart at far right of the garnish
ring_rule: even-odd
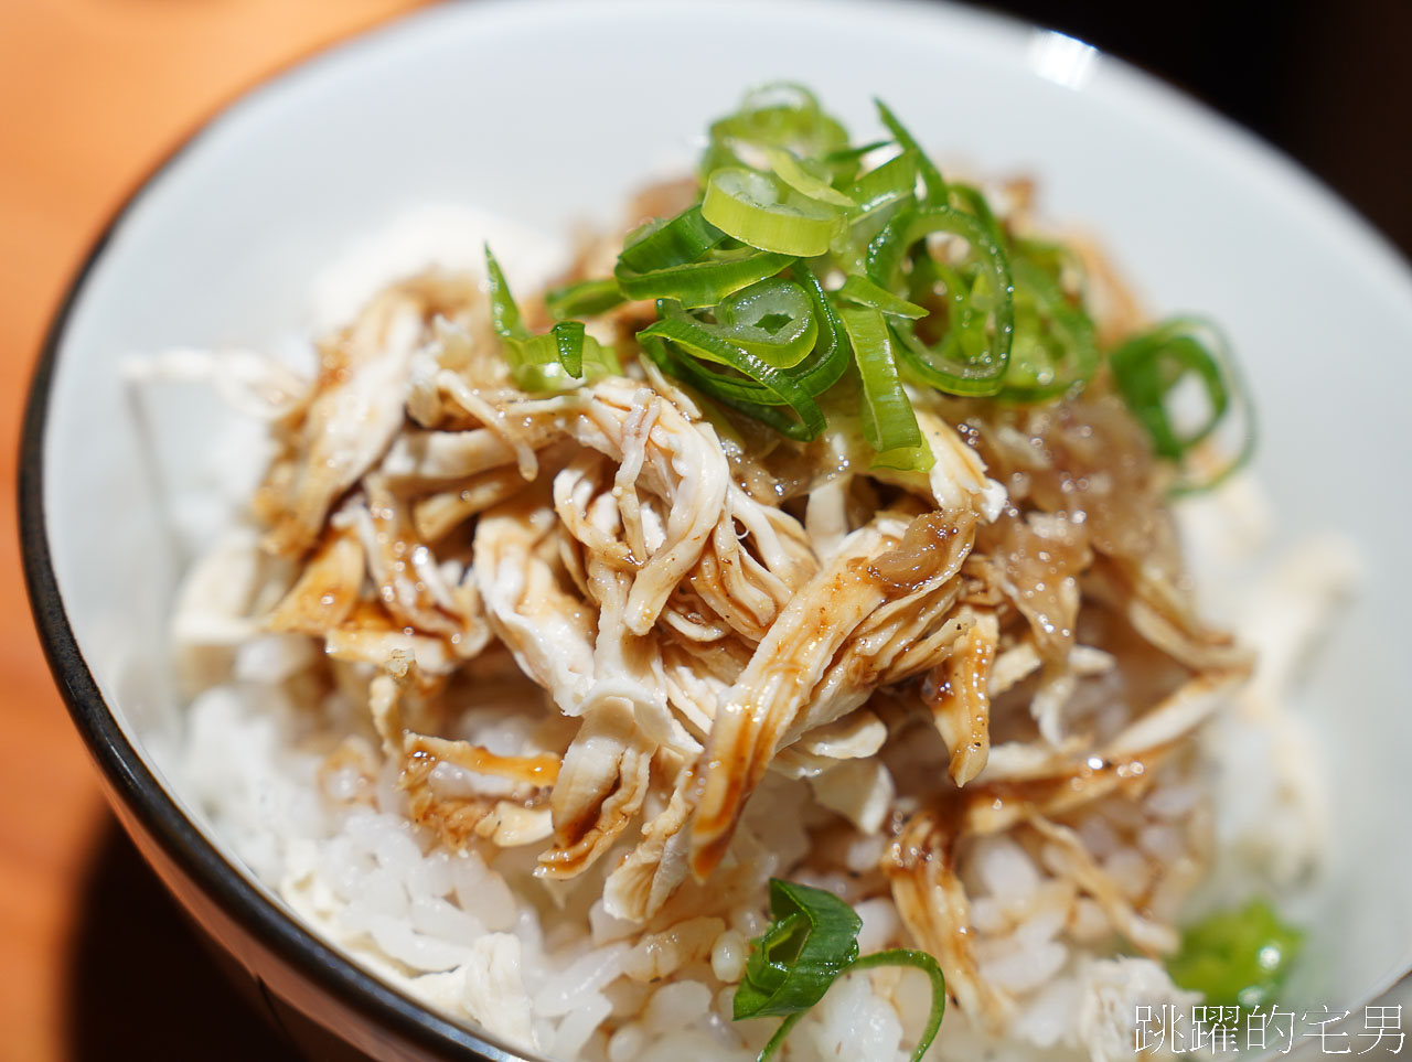
[[[1202,342],[1203,335],[1210,343]],[[1120,346],[1108,363],[1118,394],[1147,428],[1154,452],[1169,460],[1182,462],[1214,434],[1233,398],[1240,404],[1244,438],[1236,455],[1216,475],[1183,480],[1178,490],[1209,490],[1250,460],[1255,446],[1254,410],[1226,342],[1213,325],[1195,318],[1165,321]],[[1183,432],[1173,424],[1169,400],[1187,377],[1195,377],[1204,391],[1207,411],[1196,428]]]

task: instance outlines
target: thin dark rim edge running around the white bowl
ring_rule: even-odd
[[[527,0],[518,0],[517,6],[521,8],[528,6],[552,8],[568,1],[530,0],[527,3]],[[789,1],[785,0],[785,3],[779,3],[778,6],[789,6]],[[473,7],[486,11],[508,7],[510,3],[511,0],[483,0],[483,3]],[[645,7],[647,3],[650,0],[637,0],[634,6]],[[856,3],[861,3],[861,0],[830,0],[827,6],[850,7]],[[1043,23],[997,11],[988,7],[984,0],[940,0],[939,3],[885,0],[885,3],[894,8],[911,8],[912,13],[923,18],[945,20],[960,16],[984,21],[990,27],[1007,32],[1056,32],[1062,37],[1077,40],[1080,44],[1093,48],[1094,55],[1104,65],[1162,90],[1169,99],[1178,102],[1189,113],[1199,116],[1203,123],[1209,123],[1213,129],[1221,129],[1226,133],[1234,131],[1240,138],[1262,153],[1267,161],[1278,164],[1286,172],[1292,172],[1292,175],[1309,186],[1309,191],[1320,195],[1329,205],[1340,208],[1340,212],[1344,215],[1341,220],[1353,229],[1361,230],[1360,234],[1364,239],[1371,237],[1371,243],[1389,257],[1395,266],[1401,267],[1405,278],[1412,277],[1412,260],[1343,195],[1261,134],[1165,78],[1151,73],[1101,48],[1089,45],[1080,38],[1073,38],[1070,34],[1052,30]],[[729,4],[730,0],[727,0]],[[617,6],[621,6],[621,0]],[[17,527],[30,610],[35,630],[40,634],[47,664],[75,729],[78,729],[89,756],[99,767],[109,801],[124,808],[140,823],[147,836],[161,847],[174,866],[199,891],[216,900],[220,911],[241,932],[257,941],[261,948],[273,953],[277,960],[295,970],[306,982],[318,986],[325,996],[349,1010],[366,1015],[371,1025],[394,1031],[405,1038],[407,1042],[415,1045],[417,1049],[435,1058],[465,1059],[466,1051],[470,1049],[472,1052],[477,1052],[476,1056],[484,1059],[484,1062],[542,1062],[535,1055],[522,1055],[508,1046],[496,1044],[487,1038],[490,1034],[472,1031],[466,1025],[442,1017],[431,1006],[366,970],[345,949],[329,943],[291,912],[270,902],[249,878],[249,871],[241,870],[232,860],[226,859],[220,849],[205,836],[201,828],[185,815],[172,794],[152,774],[143,756],[124,734],[83,658],[59,595],[51,559],[44,506],[44,441],[49,397],[58,367],[59,347],[66,338],[69,319],[79,297],[85,291],[90,274],[102,260],[113,236],[154,188],[161,184],[161,178],[168,175],[189,153],[217,136],[229,120],[257,99],[278,93],[294,79],[315,73],[326,62],[349,58],[367,45],[376,45],[377,40],[383,35],[397,31],[417,31],[419,24],[433,24],[439,17],[446,17],[448,11],[453,10],[460,13],[459,17],[467,17],[466,10],[470,8],[472,6],[469,4],[462,7],[460,4],[450,3],[418,7],[357,30],[353,34],[316,45],[289,61],[273,66],[270,71],[258,75],[254,82],[237,89],[233,95],[208,110],[202,119],[198,119],[186,133],[176,138],[174,145],[157,157],[157,161],[121,196],[119,205],[100,226],[99,234],[83,254],[80,264],[69,277],[64,288],[64,295],[45,329],[38,357],[34,363],[20,431],[16,490]],[[123,816],[119,818],[120,821],[123,819]],[[123,825],[127,832],[133,832],[131,823],[123,821]],[[175,895],[175,890],[167,885],[165,881],[164,887],[168,887]],[[185,905],[181,897],[176,898]],[[247,973],[264,986],[258,974],[253,970],[247,970]],[[1392,976],[1384,979],[1385,983],[1381,984],[1374,998],[1399,982],[1406,983],[1412,980],[1412,969],[1389,973]],[[298,1004],[288,1003],[299,1010]],[[322,1025],[312,1015],[311,1020]],[[336,1030],[330,1031],[336,1035]]]

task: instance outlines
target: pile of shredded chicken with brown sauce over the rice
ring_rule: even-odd
[[[1107,328],[1134,323],[1108,304]],[[1137,895],[1077,829],[1141,830],[1248,660],[1193,614],[1121,402],[1101,380],[1034,408],[916,394],[935,467],[870,470],[847,429],[788,443],[634,360],[642,312],[593,326],[628,376],[525,394],[474,281],[426,275],[322,342],[312,386],[264,384],[280,452],[254,508],[280,589],[256,620],[321,643],[411,818],[446,846],[538,846],[551,878],[611,850],[606,908],[651,929],[724,902],[733,832],[778,772],[829,809],[803,866],[833,866],[840,832],[891,837],[850,898],[891,891],[983,1021],[1011,1003],[967,932],[979,837],[1043,850],[1108,931],[1173,948],[1209,819]],[[527,747],[455,736],[515,682]]]

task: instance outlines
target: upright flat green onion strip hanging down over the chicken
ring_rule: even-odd
[[[861,306],[843,309],[839,316],[849,332],[863,378],[863,435],[878,452],[874,466],[905,472],[929,469],[932,452],[902,390],[887,319],[881,312]]]

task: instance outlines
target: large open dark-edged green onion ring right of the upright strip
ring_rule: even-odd
[[[970,244],[980,274],[971,284],[947,282],[956,302],[943,339],[931,346],[909,321],[892,319],[899,353],[908,367],[931,386],[949,394],[995,394],[1004,384],[1014,332],[1014,285],[1010,263],[1000,244],[970,215],[949,206],[899,213],[880,232],[867,250],[868,278],[888,291],[902,281],[902,267],[911,247],[932,233],[959,236]],[[923,256],[929,257],[929,256]],[[933,267],[943,271],[942,263]],[[953,277],[955,277],[955,271]]]

